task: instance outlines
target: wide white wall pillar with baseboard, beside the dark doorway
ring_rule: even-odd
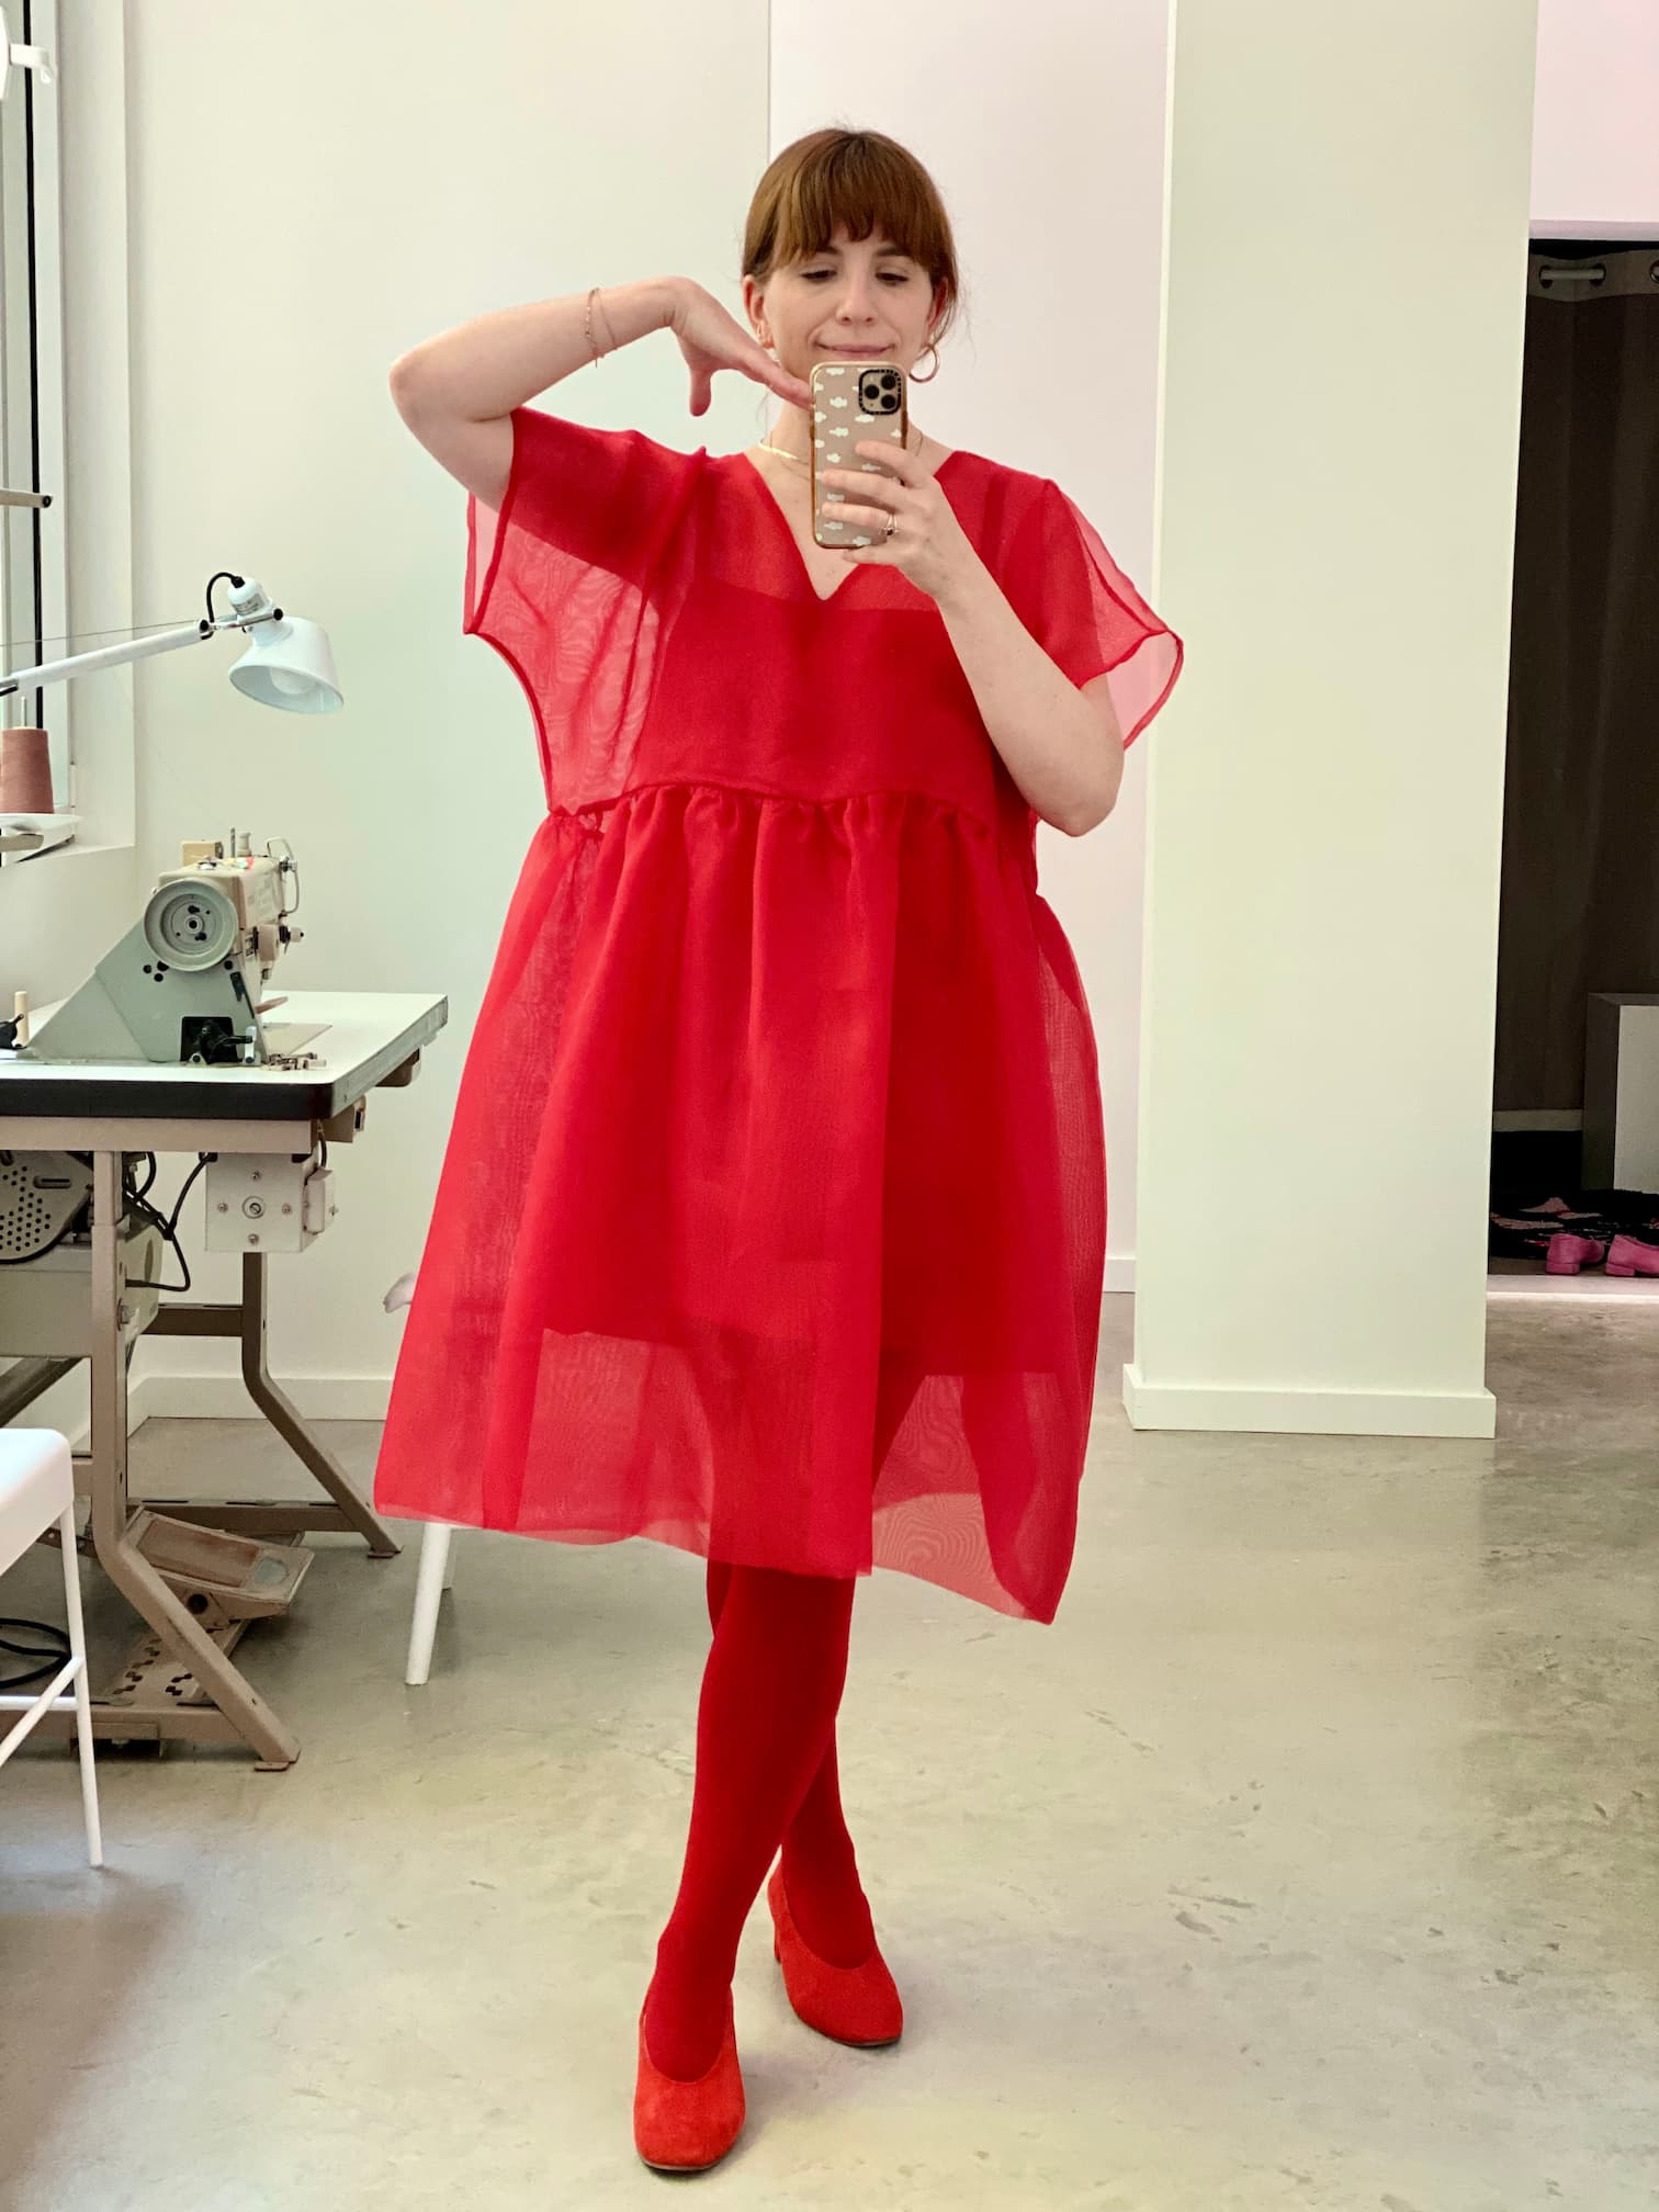
[[[1144,1427],[1493,1429],[1533,38],[1528,0],[1179,0]]]

